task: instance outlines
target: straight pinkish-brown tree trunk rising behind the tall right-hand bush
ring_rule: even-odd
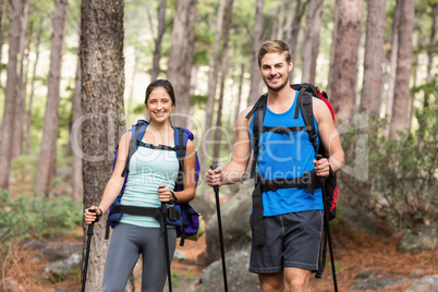
[[[399,25],[399,52],[397,62],[396,88],[397,98],[393,102],[393,122],[391,134],[409,126],[410,78],[412,69],[412,34],[414,32],[414,0],[401,0]]]

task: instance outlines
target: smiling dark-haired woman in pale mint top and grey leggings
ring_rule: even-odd
[[[143,142],[153,145],[174,146],[170,114],[175,107],[173,87],[166,80],[157,80],[146,89],[146,110],[150,117]],[[119,195],[124,178],[121,175],[129,151],[131,132],[123,134],[114,171],[107,183],[99,206],[85,210],[85,222],[90,224],[101,217]],[[173,192],[179,162],[175,151],[139,146],[130,159],[129,177],[122,205],[158,208],[161,202],[179,203],[195,197],[195,149],[187,141],[184,159],[184,190]],[[174,228],[168,228],[171,258],[177,245]],[[127,279],[143,256],[142,291],[162,291],[166,284],[166,247],[160,223],[153,217],[123,215],[114,228],[108,250],[102,291],[124,291]]]

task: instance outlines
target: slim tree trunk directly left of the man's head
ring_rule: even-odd
[[[253,29],[253,61],[251,62],[251,85],[248,106],[254,105],[261,95],[261,75],[258,66],[257,52],[263,38],[263,7],[264,0],[257,0]]]

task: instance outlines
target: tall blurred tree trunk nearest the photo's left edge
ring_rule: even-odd
[[[12,133],[12,150],[11,156],[15,158],[23,151],[23,129],[24,129],[24,108],[26,96],[26,78],[27,74],[24,68],[24,61],[27,58],[26,52],[26,34],[27,34],[27,20],[28,20],[29,3],[23,0],[23,13],[21,16],[20,25],[20,73],[16,81],[15,106],[14,106],[14,131]]]

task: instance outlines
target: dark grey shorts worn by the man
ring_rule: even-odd
[[[253,215],[250,218],[254,232]],[[316,271],[324,229],[324,210],[264,217],[265,244],[251,250],[250,271],[272,273],[285,267]],[[253,236],[254,239],[254,236]]]

